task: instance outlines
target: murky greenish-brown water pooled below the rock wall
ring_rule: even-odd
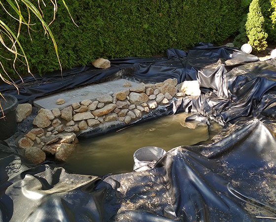
[[[95,176],[127,173],[133,171],[133,153],[138,148],[155,146],[168,151],[207,141],[207,127],[183,127],[186,117],[187,113],[165,116],[97,138],[80,140],[64,167],[73,173]]]

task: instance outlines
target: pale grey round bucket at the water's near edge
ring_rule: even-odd
[[[159,147],[142,147],[133,154],[134,171],[151,169],[154,164],[167,152]]]

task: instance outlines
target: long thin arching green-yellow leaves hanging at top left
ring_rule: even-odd
[[[69,15],[69,9],[68,6],[65,2],[65,0],[62,0],[64,6],[66,7]],[[45,2],[42,0],[43,6],[46,7],[47,5]],[[46,23],[44,20],[44,14],[43,14],[43,6],[41,6],[41,2],[39,0],[36,1],[30,1],[30,0],[0,0],[0,7],[3,9],[5,16],[9,17],[10,20],[14,21],[14,23],[11,23],[14,26],[10,26],[10,24],[7,24],[3,17],[0,17],[0,49],[7,51],[9,54],[13,56],[13,69],[14,71],[18,74],[16,70],[16,62],[23,63],[27,67],[28,74],[32,74],[28,62],[28,58],[26,56],[25,50],[24,50],[24,44],[20,41],[20,35],[22,31],[23,26],[27,26],[29,37],[30,37],[30,42],[32,42],[32,37],[30,35],[30,31],[32,30],[32,26],[35,24],[31,23],[31,18],[34,16],[36,19],[38,19],[41,27],[44,30],[44,34],[47,37],[50,37],[52,39],[54,49],[55,49],[55,54],[60,66],[60,70],[62,73],[62,66],[61,62],[59,59],[59,53],[58,53],[58,47],[56,40],[54,38],[54,35],[52,34],[51,29],[49,26],[54,22],[55,20],[55,15],[58,10],[58,4],[56,0],[51,0],[51,2],[47,2],[48,4],[51,5],[53,8],[53,17],[50,23]],[[71,17],[71,15],[70,15]],[[71,17],[72,19],[72,17]],[[73,20],[73,19],[72,19]],[[74,21],[73,21],[74,23]],[[74,23],[75,24],[75,23]],[[26,44],[26,42],[25,42]],[[27,43],[28,44],[28,43]],[[1,55],[0,55],[1,56]],[[5,58],[1,56],[3,59],[6,60],[11,60],[9,58]],[[18,74],[19,75],[19,74]],[[33,74],[32,74],[33,75]],[[19,75],[21,78],[21,76]],[[0,61],[0,79],[9,85],[13,85],[17,91],[19,92],[18,86],[16,83],[13,81],[13,79],[9,76],[8,72],[6,71],[4,65]],[[23,79],[21,78],[22,82]],[[3,97],[3,95],[0,92],[0,97]],[[4,98],[4,97],[3,97]],[[0,111],[2,112],[2,115],[4,117],[4,113],[2,110],[2,106],[0,103]]]

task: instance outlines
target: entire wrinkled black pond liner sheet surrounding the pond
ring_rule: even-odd
[[[108,70],[67,71],[20,85],[20,103],[114,77],[144,82],[200,80],[202,95],[174,100],[168,113],[196,111],[224,125],[215,143],[177,147],[151,170],[70,174],[52,162],[29,165],[0,144],[1,221],[261,221],[276,218],[276,61],[199,44],[167,58],[117,59]],[[129,72],[126,72],[129,73]],[[118,74],[117,74],[118,75]],[[16,95],[0,86],[0,91]],[[170,108],[170,109],[169,109]],[[195,119],[202,117],[195,117]],[[106,163],[108,164],[108,163]]]

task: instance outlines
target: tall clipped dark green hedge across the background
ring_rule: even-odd
[[[35,1],[34,1],[35,2]],[[186,49],[198,42],[220,44],[233,35],[240,23],[240,0],[66,0],[78,24],[74,26],[60,7],[50,26],[56,38],[63,69],[90,64],[98,57],[150,57],[166,49]],[[52,7],[43,7],[50,21]],[[0,15],[4,15],[0,9]],[[34,16],[33,16],[34,17]],[[2,17],[1,17],[2,19]],[[34,18],[33,18],[34,19]],[[6,18],[10,26],[16,23]],[[33,20],[34,21],[34,20]],[[33,26],[30,41],[26,27],[20,36],[33,73],[59,69],[52,41],[39,25]],[[1,55],[10,57],[2,50]],[[0,57],[14,76],[12,63]],[[20,74],[26,68],[17,63]]]

